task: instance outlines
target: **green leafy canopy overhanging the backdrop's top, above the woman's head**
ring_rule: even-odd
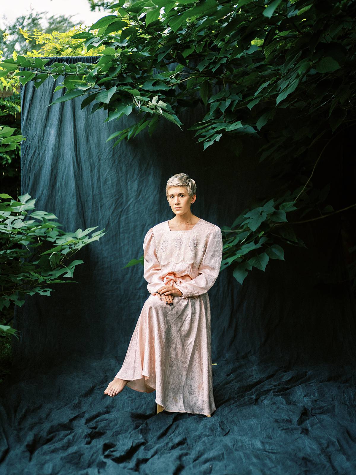
[[[48,72],[72,76],[63,83],[66,94],[52,104],[91,93],[83,107],[95,100],[93,109],[103,107],[112,120],[130,106],[144,116],[141,130],[153,128],[156,115],[180,126],[179,110],[202,102],[206,115],[193,130],[205,148],[223,134],[257,135],[267,123],[278,122],[288,105],[293,121],[308,115],[314,127],[300,127],[296,134],[293,123],[261,159],[277,147],[288,157],[301,137],[312,140],[325,122],[325,130],[335,131],[351,107],[355,33],[350,8],[347,1],[140,0],[125,7],[121,0],[110,7],[111,15],[73,36],[87,50],[105,46],[97,64],[46,67],[19,55],[0,63],[1,74],[26,67],[14,74],[22,84],[34,80],[36,87]],[[178,66],[169,70],[169,62]],[[221,90],[212,94],[215,85]],[[320,115],[322,124],[315,120]],[[133,135],[129,131],[126,138]],[[296,152],[306,148],[307,142]]]

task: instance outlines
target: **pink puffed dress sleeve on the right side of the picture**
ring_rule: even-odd
[[[220,272],[223,257],[223,238],[221,229],[214,226],[207,236],[206,250],[198,267],[199,275],[194,279],[177,285],[182,297],[195,297],[205,294],[215,283]]]

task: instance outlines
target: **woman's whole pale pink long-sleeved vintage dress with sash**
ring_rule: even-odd
[[[144,238],[143,276],[151,295],[116,377],[129,380],[133,390],[156,390],[166,411],[215,410],[207,291],[219,275],[222,249],[221,229],[202,218],[188,231],[171,231],[163,221]],[[183,296],[165,304],[156,295],[163,285],[178,287]]]

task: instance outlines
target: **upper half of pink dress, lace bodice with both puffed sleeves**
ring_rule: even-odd
[[[206,293],[219,275],[222,248],[221,229],[202,218],[189,231],[171,231],[168,221],[150,228],[143,243],[148,291],[155,294],[169,274],[176,280],[169,285],[178,287],[184,297]],[[182,276],[184,280],[178,278]]]

